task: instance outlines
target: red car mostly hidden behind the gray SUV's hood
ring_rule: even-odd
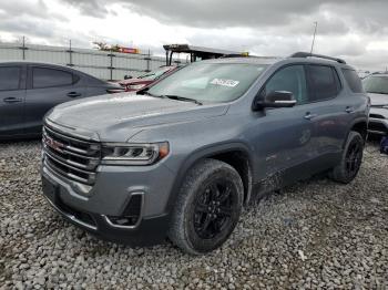
[[[120,85],[125,89],[126,92],[134,92],[143,89],[144,86],[152,84],[153,82],[160,80],[161,77],[167,75],[175,71],[178,66],[176,65],[165,65],[161,66],[154,71],[147,72],[141,76],[132,79],[126,76],[126,80],[120,81]]]

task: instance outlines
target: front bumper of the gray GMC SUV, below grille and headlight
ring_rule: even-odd
[[[131,246],[151,246],[165,240],[169,229],[167,198],[174,175],[163,165],[147,167],[100,166],[95,184],[86,195],[42,163],[43,195],[70,222],[92,235]],[[113,224],[124,216],[131,198],[141,194],[137,221],[131,226]]]

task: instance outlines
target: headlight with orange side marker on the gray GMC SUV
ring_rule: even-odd
[[[105,143],[102,144],[102,162],[105,165],[151,165],[167,156],[167,142],[161,143]]]

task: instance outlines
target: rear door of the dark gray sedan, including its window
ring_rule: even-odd
[[[39,134],[44,114],[53,106],[83,97],[82,79],[65,68],[30,65],[25,94],[24,132]]]

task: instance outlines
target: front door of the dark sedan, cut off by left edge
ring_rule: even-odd
[[[0,65],[0,137],[23,132],[25,65]]]

